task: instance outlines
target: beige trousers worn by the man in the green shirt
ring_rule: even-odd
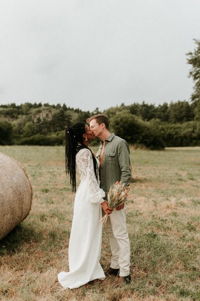
[[[113,210],[104,229],[111,244],[111,268],[120,268],[119,275],[128,276],[130,274],[130,242],[126,230],[126,206],[121,210]]]

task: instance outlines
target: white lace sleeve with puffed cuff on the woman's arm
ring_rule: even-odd
[[[79,167],[81,173],[85,176],[86,181],[90,187],[91,202],[102,203],[104,201],[105,192],[99,187],[98,181],[94,173],[94,165],[92,160],[92,154],[88,149],[81,149],[78,153]],[[89,189],[88,189],[89,193]]]

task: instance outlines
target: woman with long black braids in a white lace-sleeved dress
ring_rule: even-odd
[[[105,192],[99,187],[99,162],[88,148],[93,139],[85,123],[66,129],[65,165],[70,175],[72,191],[76,192],[76,166],[80,185],[74,202],[74,216],[69,241],[69,272],[60,272],[58,281],[64,289],[78,288],[94,279],[105,279],[99,263],[101,253],[101,203]]]

